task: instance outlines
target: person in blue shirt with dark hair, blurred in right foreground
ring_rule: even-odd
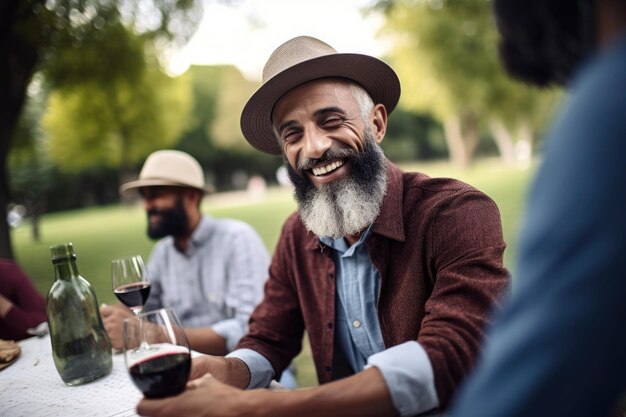
[[[502,58],[567,82],[512,299],[454,417],[608,416],[626,389],[626,2],[496,0]]]

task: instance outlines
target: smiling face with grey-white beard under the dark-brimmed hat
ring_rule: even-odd
[[[386,121],[385,107],[345,80],[312,81],[278,101],[274,128],[308,230],[351,237],[376,219],[387,187],[378,145]]]

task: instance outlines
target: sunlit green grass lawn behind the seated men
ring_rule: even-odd
[[[493,161],[483,161],[462,171],[444,163],[415,163],[402,167],[409,171],[422,171],[433,177],[459,178],[491,196],[500,208],[508,244],[505,264],[511,271],[515,269],[517,234],[532,169],[504,167]],[[291,192],[280,188],[269,189],[263,198],[251,198],[243,193],[222,193],[208,196],[203,203],[203,211],[214,217],[237,218],[250,223],[269,250],[276,244],[283,221],[295,208]],[[98,300],[116,302],[111,289],[110,262],[115,257],[132,254],[148,258],[153,242],[146,237],[145,218],[140,204],[45,215],[41,219],[39,242],[31,239],[27,224],[12,230],[17,261],[37,289],[46,294],[54,281],[50,246],[72,242],[78,256],[78,269],[91,282]],[[317,383],[317,378],[306,341],[304,347],[296,359],[298,381],[300,385],[311,386]]]

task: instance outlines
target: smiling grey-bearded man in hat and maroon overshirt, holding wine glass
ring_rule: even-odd
[[[252,146],[283,156],[298,211],[236,350],[194,359],[187,391],[144,399],[139,414],[445,410],[508,284],[505,243],[485,194],[385,158],[380,143],[399,96],[395,72],[371,56],[306,36],[274,51],[241,127]],[[267,387],[300,352],[305,331],[320,386],[237,389]]]

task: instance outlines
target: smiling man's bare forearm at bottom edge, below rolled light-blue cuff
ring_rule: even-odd
[[[378,369],[314,388],[292,391],[258,390],[254,409],[274,417],[385,417],[396,416],[391,395]],[[257,414],[255,414],[257,415]]]

